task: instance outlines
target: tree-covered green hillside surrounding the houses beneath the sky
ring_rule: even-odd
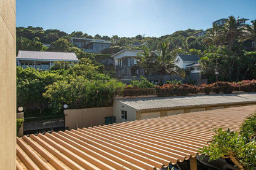
[[[73,109],[110,106],[113,91],[123,89],[125,85],[114,80],[114,71],[106,71],[105,66],[97,62],[97,57],[110,57],[111,54],[124,48],[144,50],[147,54],[144,57],[150,59],[145,62],[153,61],[161,64],[157,68],[161,68],[164,74],[168,73],[167,69],[172,69],[174,58],[179,53],[198,55],[201,58],[202,78],[208,79],[208,83],[217,81],[216,71],[218,71],[218,80],[225,82],[256,78],[256,52],[254,52],[255,48],[251,47],[251,42],[256,41],[256,20],[253,20],[251,25],[241,27],[238,20],[231,16],[225,26],[214,26],[207,30],[205,36],[198,38],[192,36],[198,31],[202,30],[187,29],[161,37],[142,35],[108,37],[98,34],[92,37],[81,31],[67,34],[57,29],[18,27],[17,51],[74,52],[79,58],[79,63],[55,63],[50,71],[33,68],[23,70],[18,67],[17,107],[24,106],[26,114],[34,114],[34,111],[29,110],[36,108],[36,112],[41,115],[62,113],[63,104],[68,104]],[[105,49],[103,55],[99,56],[84,53],[83,50],[75,47],[70,42],[71,37],[105,39],[115,44]],[[133,47],[134,42],[146,43],[142,47]],[[50,44],[50,47],[44,44]],[[150,55],[153,50],[158,50],[161,55]],[[161,60],[158,60],[159,58]],[[166,61],[171,68],[167,67]],[[142,66],[150,64],[143,62],[142,60]],[[186,72],[187,74],[189,73]]]

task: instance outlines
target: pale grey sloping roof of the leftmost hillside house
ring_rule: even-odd
[[[35,52],[35,51],[18,51],[17,59],[19,60],[60,60],[60,61],[78,61],[75,53],[67,52]]]

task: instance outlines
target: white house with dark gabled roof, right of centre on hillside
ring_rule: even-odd
[[[177,55],[175,64],[186,71],[186,79],[193,80],[194,83],[207,83],[207,80],[201,79],[201,66],[198,55]],[[175,77],[178,79],[178,77]]]

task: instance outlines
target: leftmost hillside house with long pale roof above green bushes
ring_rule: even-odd
[[[21,66],[23,69],[30,67],[42,71],[49,70],[55,61],[77,63],[79,60],[75,53],[67,52],[34,52],[20,50],[16,57],[17,66]]]

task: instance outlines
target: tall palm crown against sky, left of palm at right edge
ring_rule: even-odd
[[[225,37],[225,41],[228,47],[233,48],[234,41],[238,39],[242,34],[242,28],[240,27],[239,17],[234,18],[234,16],[228,17],[225,26],[221,27],[220,37]]]

